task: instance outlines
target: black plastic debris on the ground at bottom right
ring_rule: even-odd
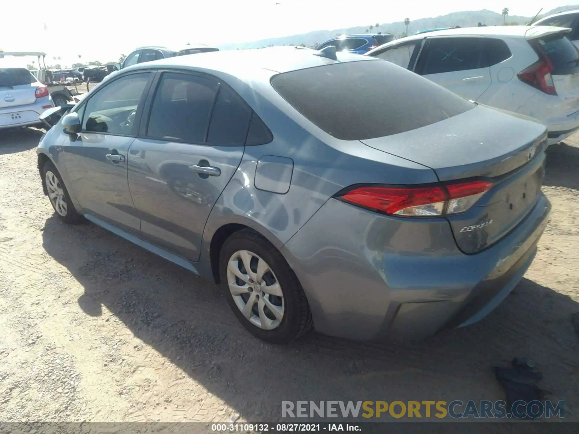
[[[537,385],[543,373],[536,372],[534,366],[530,360],[514,358],[510,367],[493,368],[494,375],[507,393],[507,413],[511,412],[512,404],[518,400],[530,402],[545,398],[545,392]]]

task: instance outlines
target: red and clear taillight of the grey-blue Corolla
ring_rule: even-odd
[[[492,186],[487,181],[419,188],[365,186],[349,190],[338,198],[390,215],[435,217],[466,211]]]

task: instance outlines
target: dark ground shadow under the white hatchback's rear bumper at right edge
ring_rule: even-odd
[[[560,143],[547,148],[543,185],[579,190],[579,148]]]

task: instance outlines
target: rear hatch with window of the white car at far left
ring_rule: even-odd
[[[36,78],[24,68],[0,68],[0,108],[34,104]]]

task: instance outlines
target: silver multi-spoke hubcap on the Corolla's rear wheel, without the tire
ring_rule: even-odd
[[[227,281],[236,306],[248,321],[264,330],[280,325],[284,295],[265,260],[247,250],[233,253],[227,264]]]

